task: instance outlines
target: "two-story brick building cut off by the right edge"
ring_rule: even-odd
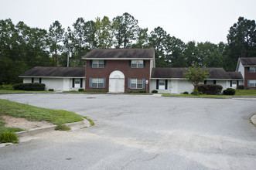
[[[256,89],[256,57],[239,58],[236,72],[241,72],[245,88]]]

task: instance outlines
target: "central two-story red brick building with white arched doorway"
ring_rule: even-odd
[[[149,92],[154,49],[93,49],[83,59],[86,91]]]

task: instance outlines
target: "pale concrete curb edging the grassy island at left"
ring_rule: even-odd
[[[85,119],[84,121],[68,123],[68,124],[65,124],[65,125],[67,127],[70,127],[70,128],[72,128],[74,126],[82,126],[82,125],[85,125],[85,126],[89,127],[90,122]],[[25,136],[29,136],[29,135],[33,135],[33,134],[39,134],[39,133],[43,133],[43,132],[47,132],[47,131],[55,131],[56,126],[57,125],[51,125],[51,126],[46,127],[46,128],[34,128],[34,129],[29,129],[28,131],[15,132],[15,134],[17,134],[19,137],[25,137]]]

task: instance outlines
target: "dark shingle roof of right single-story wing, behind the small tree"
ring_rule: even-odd
[[[152,78],[185,78],[186,68],[153,68]],[[207,68],[210,71],[209,79],[230,79],[230,76],[223,68]]]

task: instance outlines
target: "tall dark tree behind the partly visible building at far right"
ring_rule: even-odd
[[[256,56],[256,24],[254,20],[239,17],[238,22],[230,27],[227,35],[229,52],[228,70],[235,70],[239,57]]]

